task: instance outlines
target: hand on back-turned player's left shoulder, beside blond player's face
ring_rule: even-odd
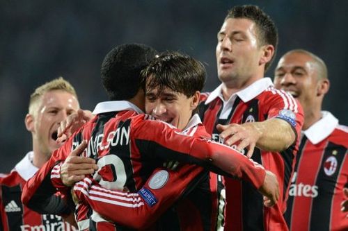
[[[61,121],[58,128],[58,139],[56,142],[58,144],[65,142],[72,133],[76,132],[81,126],[93,119],[94,114],[88,110],[79,109],[77,113],[70,114],[65,120]]]

